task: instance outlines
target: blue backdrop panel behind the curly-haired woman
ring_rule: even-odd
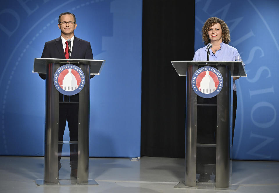
[[[279,1],[196,0],[195,50],[204,46],[201,28],[209,17],[230,28],[248,77],[236,81],[235,159],[279,160]]]

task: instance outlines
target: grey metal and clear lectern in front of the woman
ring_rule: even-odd
[[[212,174],[209,183],[213,184],[213,188],[228,188],[232,147],[231,77],[246,77],[244,63],[242,61],[172,61],[171,63],[179,76],[187,75],[184,186],[197,187],[197,178],[202,170]],[[202,98],[192,89],[192,76],[203,66],[217,68],[223,76],[223,88],[214,98]],[[213,137],[207,136],[210,133],[208,130],[212,130]],[[179,186],[178,184],[175,187]]]

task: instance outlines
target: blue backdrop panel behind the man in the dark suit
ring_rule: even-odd
[[[1,2],[0,155],[44,155],[45,81],[32,68],[60,36],[62,12],[76,15],[75,35],[106,60],[91,79],[89,155],[139,157],[142,0]]]

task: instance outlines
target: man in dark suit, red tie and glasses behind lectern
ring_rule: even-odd
[[[74,36],[76,29],[76,17],[74,14],[61,13],[58,19],[58,28],[61,36],[44,44],[41,58],[69,58],[67,52],[67,40],[71,39],[70,59],[93,59],[90,42]],[[39,74],[46,79],[45,74]],[[93,76],[91,76],[93,77]],[[68,121],[71,141],[78,140],[78,94],[67,96],[59,93],[59,133],[58,140],[63,140],[66,120]],[[61,168],[62,144],[58,145],[58,171]],[[70,144],[71,176],[77,177],[77,144]],[[58,174],[59,175],[59,174]]]

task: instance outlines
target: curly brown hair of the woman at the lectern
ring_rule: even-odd
[[[207,45],[210,42],[209,36],[208,36],[208,29],[212,26],[214,26],[215,24],[219,23],[221,25],[221,29],[222,29],[222,41],[225,44],[229,44],[230,42],[230,30],[227,26],[227,24],[225,23],[225,21],[223,21],[222,19],[218,18],[218,17],[210,17],[208,18],[204,25],[203,25],[203,29],[202,29],[202,35],[203,35],[203,41],[204,41],[204,45]]]

